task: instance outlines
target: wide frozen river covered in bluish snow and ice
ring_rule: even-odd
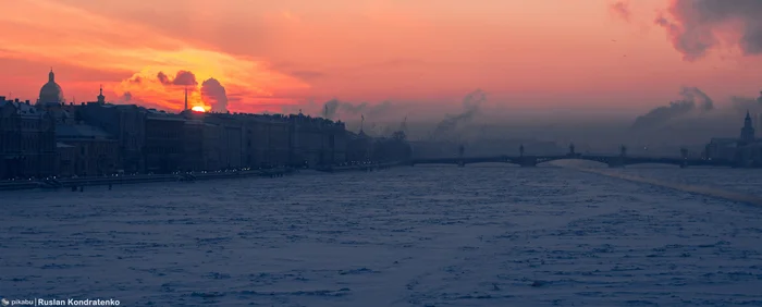
[[[762,196],[754,170],[618,172]],[[416,167],[0,204],[7,298],[762,306],[762,207],[570,169]]]

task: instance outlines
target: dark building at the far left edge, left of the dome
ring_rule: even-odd
[[[0,96],[0,177],[44,177],[56,173],[56,126],[50,113],[29,101]]]

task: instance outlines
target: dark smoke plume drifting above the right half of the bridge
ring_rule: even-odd
[[[695,110],[711,111],[714,101],[706,94],[696,87],[684,87],[680,90],[683,99],[669,102],[669,106],[655,108],[648,113],[638,116],[632,128],[655,128],[672,119],[686,115]]]

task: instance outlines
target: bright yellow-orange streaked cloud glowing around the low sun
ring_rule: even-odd
[[[261,59],[223,52],[219,46],[212,48],[157,30],[147,23],[110,17],[75,4],[49,0],[3,4],[7,14],[0,19],[0,45],[5,51],[0,57],[131,75],[119,84],[105,83],[105,87],[116,96],[131,93],[133,101],[151,101],[163,109],[181,109],[173,100],[183,99],[182,87],[194,89],[199,81],[211,77],[241,97],[282,96],[310,87],[303,79],[271,69]],[[200,96],[194,99],[195,103],[204,103]],[[242,101],[237,107],[251,111],[258,109],[256,103]]]

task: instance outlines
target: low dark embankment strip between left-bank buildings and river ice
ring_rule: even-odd
[[[351,172],[351,171],[373,171],[404,165],[402,162],[372,163],[345,167],[318,168],[316,171],[323,173]],[[54,188],[82,188],[95,185],[122,185],[157,182],[195,182],[220,179],[242,179],[251,176],[279,177],[298,173],[298,169],[270,169],[234,172],[207,172],[207,173],[180,173],[180,174],[139,174],[105,177],[77,177],[77,179],[54,179],[38,181],[3,181],[0,182],[1,191],[21,189],[54,189]]]

